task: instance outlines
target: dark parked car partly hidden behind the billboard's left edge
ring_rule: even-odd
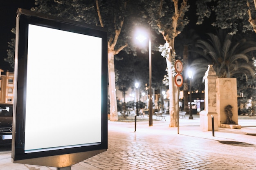
[[[0,145],[11,144],[13,104],[0,103]]]

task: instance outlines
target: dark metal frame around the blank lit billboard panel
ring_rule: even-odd
[[[26,110],[27,110],[27,75],[28,75],[28,35],[29,24],[40,26],[43,28],[50,28],[60,31],[67,31],[70,33],[77,33],[81,35],[89,35],[96,38],[101,38],[101,141],[95,144],[81,144],[77,146],[68,147],[53,147],[46,150],[32,150],[25,152],[25,126],[26,126]],[[14,163],[30,163],[34,165],[66,167],[71,166],[77,161],[82,161],[88,157],[97,155],[106,151],[108,147],[108,130],[107,130],[107,105],[108,105],[108,35],[104,28],[67,20],[63,18],[54,17],[35,13],[25,9],[18,9],[16,18],[16,50],[15,50],[15,80],[14,80],[14,101],[13,101],[13,143],[12,143],[12,161]],[[52,61],[49,61],[52,62]],[[78,61],[79,62],[79,61]],[[58,66],[59,63],[56,63]],[[45,68],[47,69],[47,68]],[[67,68],[69,69],[69,68]],[[92,74],[91,72],[88,74]],[[47,80],[46,80],[47,81]],[[83,81],[87,81],[84,79]],[[88,82],[90,83],[90,82]],[[86,87],[85,87],[86,88]],[[68,89],[67,89],[68,90]],[[80,94],[86,95],[86,94]],[[94,114],[94,113],[90,113]],[[51,119],[49,117],[49,119]],[[74,121],[79,117],[72,118]],[[58,126],[58,124],[56,124]],[[92,129],[85,129],[92,130]],[[83,134],[81,134],[83,135]],[[90,136],[88,136],[90,138]],[[70,160],[65,165],[55,164],[53,161],[62,159],[63,155],[71,155],[74,160]],[[79,159],[76,159],[79,155]],[[44,162],[43,159],[53,160],[52,163]],[[36,161],[35,161],[36,160]]]

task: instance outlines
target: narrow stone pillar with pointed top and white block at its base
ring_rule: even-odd
[[[209,65],[204,75],[204,110],[200,112],[200,128],[212,131],[211,116],[214,117],[214,130],[218,130],[218,114],[216,112],[216,72]]]

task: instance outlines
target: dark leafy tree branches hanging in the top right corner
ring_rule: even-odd
[[[196,4],[197,24],[214,13],[216,21],[212,25],[228,29],[231,35],[238,31],[256,32],[256,0],[197,0]]]

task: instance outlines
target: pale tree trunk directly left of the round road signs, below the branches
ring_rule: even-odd
[[[174,85],[174,77],[172,75],[172,63],[169,57],[166,57],[166,64],[168,68],[169,75],[169,98],[170,98],[170,106],[169,106],[169,114],[170,114],[170,124],[169,127],[177,127],[177,87]],[[177,102],[175,102],[177,101]]]

